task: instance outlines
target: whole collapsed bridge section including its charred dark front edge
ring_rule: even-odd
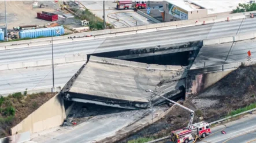
[[[91,56],[66,84],[66,100],[127,109],[146,108],[164,100],[145,90],[172,98],[183,91],[185,67],[144,64]]]

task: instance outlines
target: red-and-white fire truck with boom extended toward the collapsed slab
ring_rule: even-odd
[[[152,92],[153,94],[158,95],[152,90],[146,90],[146,92]],[[190,122],[188,123],[188,126],[183,129],[172,131],[172,134],[170,135],[170,141],[172,141],[173,143],[188,143],[194,140],[196,137],[204,138],[211,133],[210,124],[207,122],[202,121],[192,124],[195,114],[193,110],[188,109],[187,107],[180,105],[179,103],[176,103],[162,95],[158,96],[161,96],[167,101],[172,102],[174,105],[180,106],[181,108],[190,111]]]

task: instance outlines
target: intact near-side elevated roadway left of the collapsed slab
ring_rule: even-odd
[[[54,65],[55,87],[63,87],[83,64],[84,61]],[[51,65],[0,71],[0,77],[0,94],[53,87]]]

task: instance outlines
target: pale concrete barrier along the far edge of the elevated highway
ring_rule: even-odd
[[[250,13],[256,13],[256,11],[250,11],[250,12],[245,12],[245,13],[228,14],[228,15],[223,15],[223,16],[198,18],[198,19],[195,19],[195,20],[163,22],[163,23],[159,23],[159,24],[150,24],[150,25],[135,26],[135,27],[129,27],[129,28],[105,29],[105,30],[97,30],[97,31],[91,31],[91,32],[81,32],[81,33],[69,34],[69,35],[65,35],[65,36],[53,37],[53,40],[63,40],[63,39],[66,39],[68,37],[74,37],[74,36],[76,36],[76,37],[86,36],[86,35],[98,36],[98,35],[102,35],[102,34],[132,32],[132,31],[145,30],[145,29],[166,30],[165,27],[175,29],[175,28],[181,28],[181,27],[184,27],[184,26],[202,25],[203,21],[205,21],[206,24],[226,21],[227,17],[229,17],[229,20],[236,20],[236,19],[240,19],[240,18],[246,18],[246,17],[250,16]],[[14,41],[14,42],[2,42],[2,43],[0,43],[0,47],[10,46],[10,45],[13,45],[13,44],[14,45],[15,44],[27,44],[27,43],[39,42],[39,41],[51,41],[51,37],[31,39],[31,40],[22,40],[22,41]]]

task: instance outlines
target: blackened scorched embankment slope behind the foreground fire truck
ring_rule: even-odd
[[[181,103],[195,111],[194,122],[201,120],[212,122],[224,118],[232,110],[256,103],[255,71],[256,66],[236,69],[202,93],[191,96]],[[189,119],[190,113],[188,111],[176,107],[165,118],[122,142],[128,142],[139,137],[160,138],[168,136],[172,130],[187,126]]]

